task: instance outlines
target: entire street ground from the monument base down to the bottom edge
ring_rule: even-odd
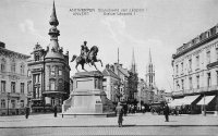
[[[53,114],[1,116],[1,135],[216,135],[218,116],[179,115],[165,122],[164,115],[150,113],[124,116],[123,127],[117,118],[74,118]]]

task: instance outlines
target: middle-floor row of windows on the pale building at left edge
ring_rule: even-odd
[[[21,94],[24,94],[24,83],[21,83]],[[5,92],[7,88],[7,82],[1,81],[1,92]],[[11,82],[11,92],[16,92],[16,83]]]

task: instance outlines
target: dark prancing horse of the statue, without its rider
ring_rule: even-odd
[[[100,62],[100,63],[101,63],[101,66],[102,66],[102,62],[101,62],[100,59],[97,59],[97,53],[98,53],[98,47],[97,47],[97,46],[93,46],[93,47],[90,48],[90,50],[88,51],[88,53],[87,53],[86,62],[85,62],[84,57],[82,57],[82,55],[78,55],[78,57],[77,57],[77,55],[75,55],[75,54],[73,55],[71,62],[73,62],[74,60],[76,61],[76,65],[75,65],[75,69],[76,69],[76,70],[77,70],[78,64],[81,64],[82,70],[86,71],[86,70],[84,69],[84,65],[87,63],[87,64],[89,64],[89,65],[94,65],[95,69],[96,69],[97,71],[99,71],[99,70],[97,69],[95,62]],[[78,70],[77,70],[77,72],[78,72]]]

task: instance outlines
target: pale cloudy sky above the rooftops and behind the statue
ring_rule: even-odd
[[[31,54],[38,42],[49,45],[48,30],[53,0],[0,0],[0,41],[5,48]],[[84,40],[87,46],[98,46],[96,63],[99,70],[119,60],[130,69],[134,50],[138,76],[145,79],[149,61],[155,65],[156,85],[166,91],[173,90],[172,54],[177,48],[218,23],[217,0],[56,0],[60,30],[59,46],[70,58],[80,54]],[[78,15],[75,9],[94,9]],[[104,10],[105,9],[105,10]],[[132,15],[117,14],[131,9]],[[109,11],[104,14],[102,11]],[[106,12],[105,12],[106,13]],[[116,13],[116,14],[112,14]],[[126,13],[126,11],[122,12]],[[70,63],[71,76],[76,72]],[[88,71],[94,67],[85,66]],[[81,67],[78,66],[78,70]]]

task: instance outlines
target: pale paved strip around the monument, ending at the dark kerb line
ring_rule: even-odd
[[[218,116],[208,114],[197,115],[170,115],[165,122],[164,115],[150,113],[129,114],[123,118],[123,126],[218,126]],[[118,127],[116,118],[74,118],[65,115],[53,118],[53,114],[35,114],[25,119],[24,115],[0,116],[0,128],[25,128],[25,127]]]

